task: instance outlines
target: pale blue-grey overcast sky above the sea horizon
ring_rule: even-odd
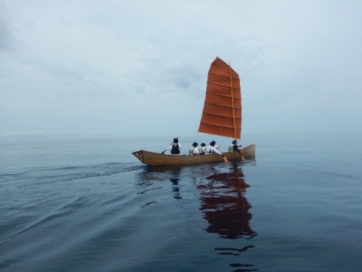
[[[243,134],[362,129],[362,1],[0,0],[0,136],[197,134],[218,56]]]

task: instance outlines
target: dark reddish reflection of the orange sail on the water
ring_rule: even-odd
[[[201,209],[209,222],[207,232],[227,239],[252,238],[256,232],[250,227],[251,205],[243,195],[246,187],[243,172],[234,166],[232,173],[215,173],[206,178],[211,183],[198,185]]]

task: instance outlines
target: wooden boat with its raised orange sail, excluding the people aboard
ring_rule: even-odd
[[[241,85],[238,74],[220,58],[216,58],[209,69],[204,110],[199,124],[199,132],[224,136],[234,139],[241,138]],[[242,148],[243,158],[253,158],[256,145]],[[208,163],[216,161],[241,160],[236,151],[199,156],[168,155],[150,151],[132,153],[142,163],[148,165],[182,165],[192,163]]]

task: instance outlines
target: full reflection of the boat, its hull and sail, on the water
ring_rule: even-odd
[[[183,168],[178,166],[148,167],[144,169],[142,180],[145,184],[149,184],[150,181],[168,180],[172,184],[173,197],[180,200],[182,199],[180,182],[184,178],[204,177],[197,178],[198,181],[194,185],[199,191],[201,202],[199,210],[203,212],[204,219],[207,219],[209,223],[205,230],[219,234],[225,239],[252,239],[256,236],[256,232],[250,225],[251,204],[245,196],[249,185],[245,182],[241,170],[242,164],[232,162],[223,167],[217,167],[217,165],[219,164],[215,163],[212,169],[209,168],[209,164]]]

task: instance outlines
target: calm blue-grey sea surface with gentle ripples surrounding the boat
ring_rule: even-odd
[[[0,271],[362,271],[361,134],[245,135],[242,162],[131,154],[171,141],[1,138]]]

